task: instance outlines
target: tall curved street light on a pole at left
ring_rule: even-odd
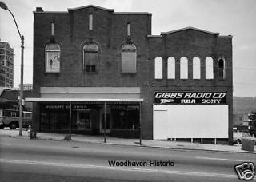
[[[8,9],[6,3],[4,2],[0,2],[0,7],[3,9],[3,10],[8,10],[11,14],[11,16],[14,18],[14,14],[11,13],[11,11]],[[18,25],[17,25],[17,22],[14,18],[14,22],[15,22],[15,25],[17,27],[17,30],[18,30],[18,34],[19,34],[19,37],[21,38],[21,41],[22,41],[22,60],[21,60],[21,84],[20,84],[20,93],[19,93],[19,135],[22,136],[22,111],[23,111],[23,108],[22,108],[22,100],[23,100],[23,62],[24,62],[24,36],[21,35],[19,29],[18,29]]]

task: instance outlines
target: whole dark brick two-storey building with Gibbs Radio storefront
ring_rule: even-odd
[[[34,11],[33,127],[232,144],[232,36],[151,34],[152,14]]]

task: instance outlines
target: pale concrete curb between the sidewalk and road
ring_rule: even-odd
[[[13,138],[20,138],[20,139],[27,139],[30,140],[29,136],[17,136],[17,135],[8,135],[8,134],[0,134],[1,137],[13,137]],[[67,141],[63,139],[58,139],[54,137],[37,137],[36,139],[31,140],[53,140],[53,141]],[[159,145],[138,145],[138,144],[116,144],[111,142],[98,142],[98,141],[81,141],[81,140],[70,140],[70,142],[79,142],[79,143],[88,143],[88,144],[111,144],[111,145],[121,145],[121,146],[128,146],[128,147],[140,147],[140,148],[163,148],[163,149],[172,149],[172,150],[191,150],[191,151],[208,151],[208,152],[231,152],[231,153],[256,153],[256,152],[250,152],[250,151],[227,151],[227,150],[221,150],[221,149],[210,149],[210,148],[189,148],[189,147],[172,147],[172,146],[159,146]],[[68,141],[69,142],[69,141]]]

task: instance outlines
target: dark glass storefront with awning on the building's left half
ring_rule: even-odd
[[[30,98],[38,102],[43,132],[139,137],[142,99]],[[106,121],[106,122],[105,122]]]

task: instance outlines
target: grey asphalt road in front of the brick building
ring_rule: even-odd
[[[0,181],[241,181],[234,166],[255,161],[253,153],[0,140]]]

